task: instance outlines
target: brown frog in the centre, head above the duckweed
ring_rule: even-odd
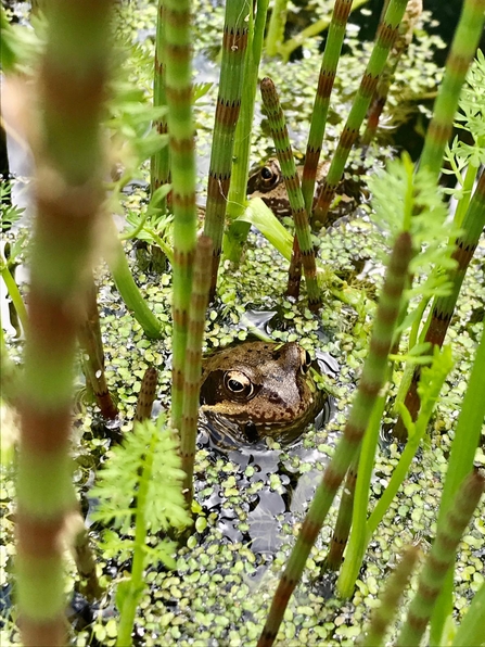
[[[294,342],[245,342],[218,351],[204,361],[201,411],[213,430],[215,422],[235,443],[255,445],[270,436],[288,444],[328,398],[310,366],[309,354]]]

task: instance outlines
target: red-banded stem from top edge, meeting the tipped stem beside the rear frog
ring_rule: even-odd
[[[311,114],[310,134],[308,136],[302,177],[302,193],[305,201],[305,208],[309,217],[311,216],[315,180],[326,131],[330,94],[332,93],[333,81],[335,80],[336,66],[342,51],[345,27],[347,25],[350,9],[352,0],[336,0],[318,77],[318,88],[315,97],[314,112]]]

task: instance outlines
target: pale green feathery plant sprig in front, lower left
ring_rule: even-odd
[[[120,582],[116,591],[119,646],[131,644],[146,564],[161,561],[167,568],[175,568],[176,542],[164,538],[149,546],[146,537],[149,531],[152,535],[173,529],[180,533],[191,523],[181,492],[183,479],[178,442],[166,424],[166,417],[161,415],[156,424],[150,420],[136,423],[133,433],[112,451],[98,484],[91,490],[91,496],[99,499],[98,509],[92,512],[93,521],[110,523],[126,535],[135,520],[132,540],[119,538],[113,530],[104,532],[112,554],[132,555],[130,578]]]

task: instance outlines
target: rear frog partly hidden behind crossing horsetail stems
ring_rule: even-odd
[[[328,161],[320,162],[317,167],[314,205],[317,199],[317,193],[327,177],[329,168],[330,163]],[[296,170],[299,179],[302,179],[303,166],[298,166]],[[359,182],[356,182],[352,177],[344,177],[339,183],[336,192],[339,199],[329,214],[328,225],[332,225],[339,218],[352,214],[360,202]],[[250,173],[247,179],[247,198],[260,198],[280,219],[292,215],[283,175],[278,160],[270,157],[263,166],[259,165]]]

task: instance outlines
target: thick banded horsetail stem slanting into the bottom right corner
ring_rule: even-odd
[[[446,573],[485,487],[485,478],[472,472],[461,483],[454,505],[442,523],[421,571],[418,591],[411,600],[406,622],[397,638],[397,647],[419,645],[443,586]]]

